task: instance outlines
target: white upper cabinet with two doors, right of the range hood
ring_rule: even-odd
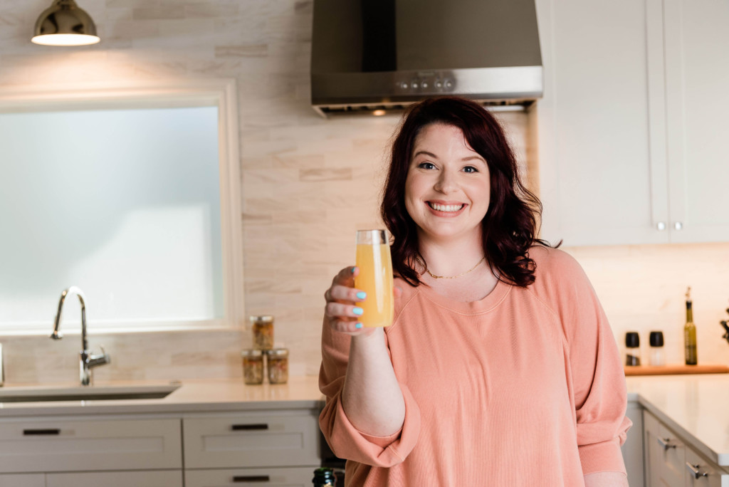
[[[537,0],[543,238],[729,240],[720,191],[729,167],[717,136],[729,128],[729,93],[720,90],[729,83],[729,5],[663,3]]]

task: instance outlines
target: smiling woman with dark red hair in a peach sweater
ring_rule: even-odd
[[[381,206],[394,322],[359,324],[357,268],[325,293],[319,424],[348,486],[628,485],[615,339],[540,210],[485,109],[410,109]]]

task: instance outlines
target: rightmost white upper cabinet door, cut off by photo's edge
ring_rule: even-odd
[[[729,241],[729,2],[664,8],[671,241]]]

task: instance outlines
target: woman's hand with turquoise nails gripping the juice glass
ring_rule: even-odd
[[[354,288],[354,278],[359,274],[359,268],[346,267],[332,279],[332,286],[324,292],[327,305],[324,307],[324,322],[332,330],[347,335],[370,335],[375,328],[364,328],[359,322],[362,308],[356,303],[362,303],[367,295],[362,289]]]

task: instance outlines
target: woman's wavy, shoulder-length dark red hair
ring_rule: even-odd
[[[537,238],[539,198],[526,189],[516,158],[499,122],[479,104],[457,97],[429,98],[410,106],[392,144],[390,168],[383,192],[381,216],[394,241],[394,272],[410,284],[421,284],[413,265],[418,251],[418,227],[405,208],[405,180],[418,133],[432,123],[460,128],[466,141],[486,160],[491,176],[491,200],[481,222],[483,252],[499,279],[527,287],[534,282],[529,249],[549,246]]]

